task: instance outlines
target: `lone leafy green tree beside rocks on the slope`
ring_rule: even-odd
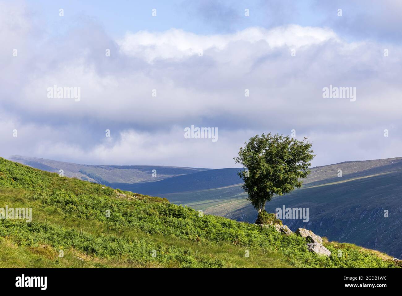
[[[234,160],[246,168],[238,175],[244,181],[242,187],[248,193],[247,199],[258,211],[258,221],[266,214],[265,204],[274,194],[283,195],[301,187],[301,178],[310,173],[310,161],[315,155],[307,138],[298,141],[289,136],[264,133],[244,144]]]

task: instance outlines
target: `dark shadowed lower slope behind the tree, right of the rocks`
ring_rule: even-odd
[[[298,189],[275,197],[267,204],[269,212],[283,205],[309,208],[310,221],[284,219],[292,230],[309,228],[331,240],[355,243],[402,258],[402,169],[338,183]],[[339,178],[340,179],[340,178]],[[384,210],[388,217],[384,217]],[[249,205],[233,210],[232,218],[256,218]],[[254,220],[255,221],[255,220]]]

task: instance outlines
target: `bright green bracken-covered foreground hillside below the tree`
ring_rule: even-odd
[[[307,251],[304,238],[273,227],[201,216],[163,198],[0,158],[5,206],[30,207],[33,220],[0,220],[2,267],[398,267],[388,255],[351,244],[326,242],[332,255],[320,256]]]

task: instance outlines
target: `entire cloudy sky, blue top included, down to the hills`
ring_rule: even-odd
[[[402,156],[401,1],[83,2],[0,1],[0,156],[235,167],[292,129],[313,166]]]

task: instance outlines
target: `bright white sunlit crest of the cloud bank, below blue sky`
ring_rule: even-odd
[[[165,32],[139,31],[127,33],[122,40],[118,41],[118,44],[121,51],[128,56],[141,57],[148,62],[153,62],[159,59],[188,58],[198,55],[200,49],[222,51],[234,42],[254,44],[264,41],[270,49],[282,46],[298,49],[330,39],[336,40],[337,37],[328,28],[288,25],[270,30],[252,27],[226,35],[197,35],[179,29],[170,29]]]

